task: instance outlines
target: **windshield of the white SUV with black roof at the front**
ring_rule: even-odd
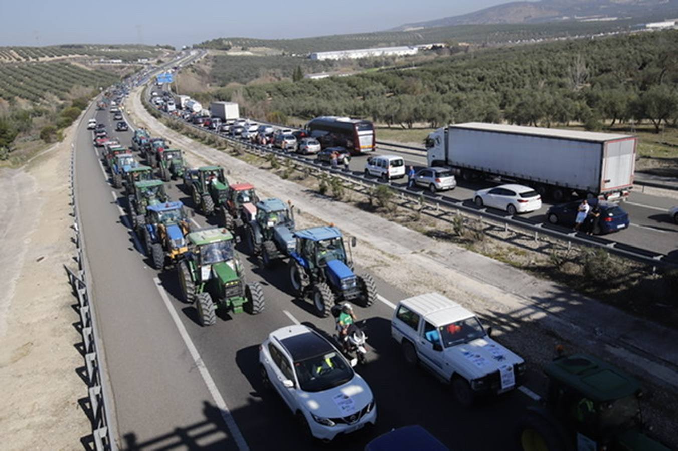
[[[311,393],[338,387],[353,379],[353,370],[336,352],[294,362],[294,372],[303,391]]]

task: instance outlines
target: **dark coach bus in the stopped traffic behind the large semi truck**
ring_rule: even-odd
[[[374,150],[374,125],[363,119],[320,116],[306,124],[306,130],[321,147],[340,146],[357,155]]]

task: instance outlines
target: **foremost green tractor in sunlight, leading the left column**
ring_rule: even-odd
[[[195,302],[200,324],[216,322],[216,307],[235,314],[264,310],[264,290],[258,282],[245,282],[245,272],[235,255],[233,234],[208,228],[186,236],[188,252],[176,265],[182,296]]]

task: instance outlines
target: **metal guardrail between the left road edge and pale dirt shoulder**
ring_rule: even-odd
[[[75,237],[73,242],[77,249],[75,259],[78,263],[78,269],[73,270],[64,265],[68,282],[73,287],[73,293],[77,295],[81,334],[83,337],[83,348],[85,352],[85,370],[87,393],[89,395],[89,405],[91,408],[90,420],[92,421],[92,439],[97,451],[117,451],[117,445],[113,434],[115,433],[115,420],[111,416],[109,406],[111,403],[111,389],[108,387],[108,381],[102,376],[106,373],[106,362],[101,358],[98,349],[102,349],[101,339],[96,326],[96,314],[94,303],[90,302],[92,297],[89,293],[90,284],[87,283],[89,274],[85,268],[86,253],[85,242],[80,233],[80,215],[75,196],[75,146],[71,144],[71,173],[70,173],[70,194],[71,205],[73,206],[73,230]]]

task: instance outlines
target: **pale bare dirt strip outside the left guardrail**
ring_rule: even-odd
[[[72,450],[92,430],[79,401],[87,387],[64,272],[73,218],[68,173],[75,126],[21,169],[0,170],[0,436],[3,449]]]

